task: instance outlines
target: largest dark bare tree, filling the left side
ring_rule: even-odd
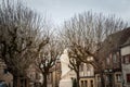
[[[40,48],[49,42],[41,28],[41,17],[36,12],[21,2],[3,0],[0,7],[0,58],[13,74],[14,87],[17,77],[26,76],[26,69]]]

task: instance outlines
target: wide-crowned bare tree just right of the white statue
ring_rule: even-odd
[[[127,23],[115,16],[104,16],[92,12],[75,15],[64,23],[61,32],[62,40],[69,48],[69,67],[77,74],[77,87],[79,87],[79,65],[81,62],[102,66],[95,53],[101,49],[103,40],[110,34],[123,29]],[[93,61],[89,61],[93,57]],[[104,86],[103,86],[104,87]]]

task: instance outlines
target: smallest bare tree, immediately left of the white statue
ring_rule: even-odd
[[[56,60],[61,55],[62,49],[60,42],[55,36],[51,36],[49,44],[43,47],[39,52],[39,58],[36,61],[37,66],[40,69],[43,75],[42,87],[48,87],[48,75],[50,70],[55,65]]]

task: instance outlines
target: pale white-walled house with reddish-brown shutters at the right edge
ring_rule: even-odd
[[[121,65],[122,65],[122,85],[123,87],[130,87],[130,37],[121,46]]]

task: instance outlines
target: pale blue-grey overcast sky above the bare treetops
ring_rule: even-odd
[[[22,0],[23,1],[23,0]],[[55,24],[84,11],[115,14],[130,22],[130,0],[24,0],[41,15],[48,14]]]

